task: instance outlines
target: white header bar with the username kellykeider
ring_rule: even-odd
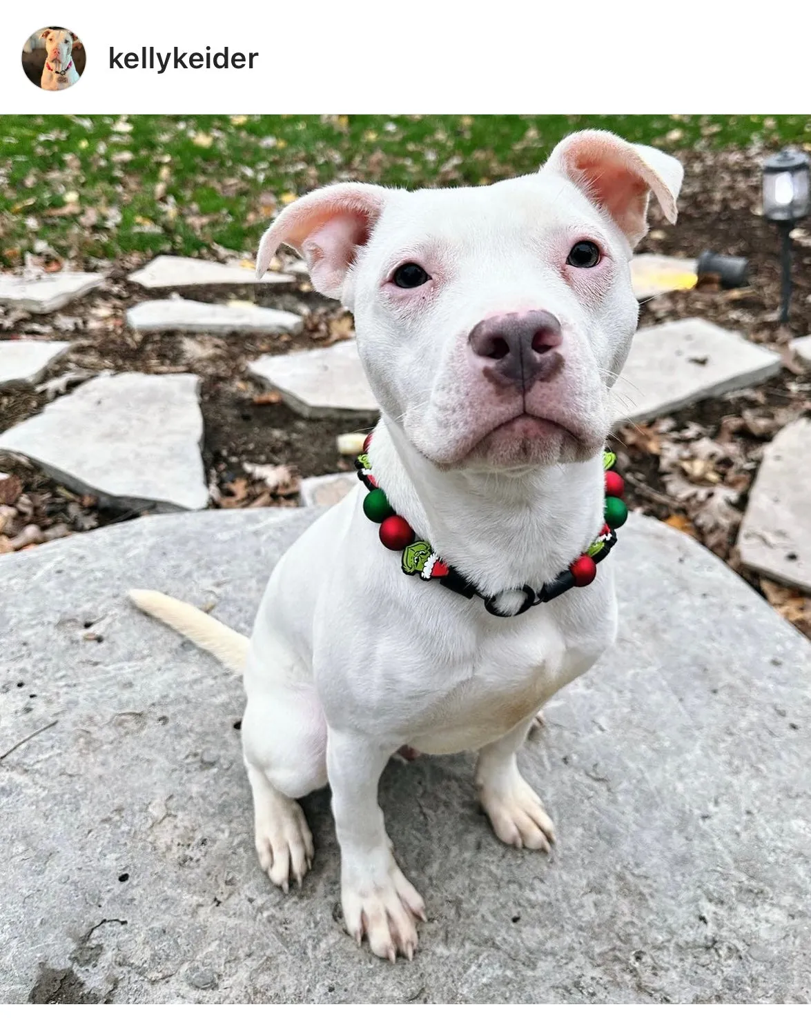
[[[807,62],[785,32],[768,45],[766,7],[756,30],[727,4],[637,0],[5,8],[4,113],[763,114],[802,113],[811,100]],[[87,66],[71,88],[45,92],[20,58],[55,24],[82,40]]]

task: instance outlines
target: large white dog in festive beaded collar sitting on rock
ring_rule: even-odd
[[[629,260],[650,192],[673,222],[681,182],[670,156],[583,131],[538,173],[490,186],[324,187],[262,238],[258,276],[289,244],[355,312],[382,411],[361,473],[385,497],[359,486],[295,542],[250,645],[180,602],[131,597],[245,664],[256,846],[285,890],[313,857],[296,799],[329,783],[344,921],[381,957],[411,958],[425,916],[377,801],[398,747],[478,750],[496,835],[553,840],[516,753],[614,638],[610,558],[595,578],[584,552],[599,560],[613,541],[603,444],[637,325]],[[387,504],[398,515],[379,540],[364,506],[379,520]]]

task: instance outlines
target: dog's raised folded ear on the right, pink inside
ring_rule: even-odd
[[[648,232],[648,201],[656,195],[668,223],[684,169],[678,159],[647,145],[632,145],[606,130],[583,130],[555,146],[545,173],[559,173],[604,209],[632,247]]]

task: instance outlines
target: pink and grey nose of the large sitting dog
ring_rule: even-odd
[[[488,377],[529,388],[560,370],[560,323],[549,312],[497,315],[474,326],[468,342]]]

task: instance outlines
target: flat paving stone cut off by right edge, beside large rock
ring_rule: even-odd
[[[745,566],[811,590],[811,420],[787,425],[763,450],[738,548]]]

